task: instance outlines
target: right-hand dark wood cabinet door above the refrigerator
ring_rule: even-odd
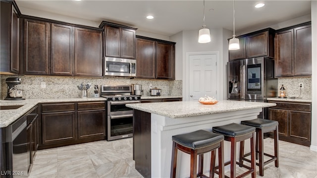
[[[247,58],[267,56],[267,33],[262,32],[246,37]]]

